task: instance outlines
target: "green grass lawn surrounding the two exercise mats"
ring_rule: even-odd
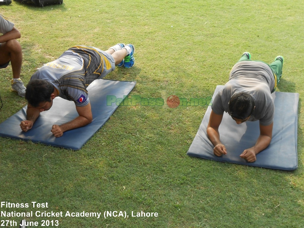
[[[22,80],[74,45],[106,50],[133,43],[136,62],[107,76],[136,80],[131,95],[205,98],[228,80],[244,51],[253,60],[285,58],[278,91],[297,92],[298,169],[278,171],[186,155],[206,107],[120,106],[81,150],[0,138],[0,201],[28,203],[6,212],[52,227],[304,227],[304,96],[302,1],[64,0],[43,8],[1,5],[22,34]],[[0,70],[0,122],[26,105]],[[285,110],[276,110],[284,115]],[[287,151],[286,151],[287,152]],[[33,208],[31,202],[48,203]],[[65,217],[66,212],[101,212]],[[105,211],[129,215],[104,218]],[[154,212],[157,217],[131,217]],[[41,215],[41,214],[38,214]],[[19,222],[21,217],[1,217]],[[58,220],[59,226],[55,226]],[[0,224],[1,225],[1,224]],[[6,226],[6,223],[5,223]],[[50,225],[51,226],[51,225]]]

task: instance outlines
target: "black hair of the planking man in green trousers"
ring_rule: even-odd
[[[254,110],[254,98],[249,93],[234,94],[229,101],[230,116],[234,119],[247,119]]]

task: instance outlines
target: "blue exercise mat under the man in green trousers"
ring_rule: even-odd
[[[222,88],[218,85],[214,95]],[[213,95],[213,98],[214,98]],[[259,154],[257,161],[247,162],[240,154],[254,146],[260,134],[259,121],[237,123],[224,112],[219,126],[221,142],[226,146],[227,154],[217,157],[213,154],[213,145],[207,136],[207,126],[211,113],[208,107],[199,130],[187,152],[189,156],[214,161],[230,162],[270,169],[295,170],[298,168],[297,130],[298,130],[298,93],[274,92],[275,117],[270,145]]]

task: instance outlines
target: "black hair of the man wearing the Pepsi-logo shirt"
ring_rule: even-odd
[[[41,102],[51,102],[51,94],[54,86],[45,80],[33,79],[26,86],[25,98],[33,107],[39,106]]]

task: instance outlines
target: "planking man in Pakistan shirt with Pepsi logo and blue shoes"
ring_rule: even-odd
[[[68,123],[54,124],[50,131],[55,137],[91,123],[93,117],[88,85],[104,78],[115,66],[132,67],[135,61],[133,54],[132,44],[118,43],[106,51],[78,45],[65,51],[58,59],[44,64],[26,86],[28,105],[26,120],[20,123],[21,130],[30,130],[40,112],[49,110],[56,97],[74,101],[79,116]]]

